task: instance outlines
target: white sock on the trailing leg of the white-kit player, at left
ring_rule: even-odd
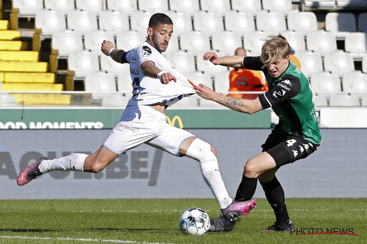
[[[44,160],[38,168],[43,174],[50,171],[83,171],[84,160],[87,156],[87,154],[73,153],[58,159]]]

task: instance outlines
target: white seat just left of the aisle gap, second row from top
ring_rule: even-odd
[[[306,36],[308,32],[318,30],[317,19],[314,12],[291,12],[288,14],[287,23],[288,30],[301,32],[304,36]]]

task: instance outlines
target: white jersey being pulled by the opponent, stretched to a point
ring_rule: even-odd
[[[151,105],[166,102],[165,107],[172,105],[183,97],[195,93],[194,86],[161,53],[147,41],[126,53],[126,60],[130,63],[130,75],[133,81],[133,97],[129,105]],[[170,81],[162,84],[157,78],[150,78],[143,74],[140,65],[144,61],[152,61],[162,71],[171,73],[177,82]]]

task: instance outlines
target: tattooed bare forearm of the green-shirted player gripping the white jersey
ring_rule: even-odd
[[[254,100],[231,98],[217,93],[203,84],[196,86],[196,93],[204,99],[218,102],[223,106],[242,113],[253,114],[263,109],[258,98]]]

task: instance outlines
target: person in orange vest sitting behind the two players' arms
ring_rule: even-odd
[[[239,47],[234,55],[247,57],[246,50]],[[233,68],[229,73],[229,91],[268,91],[267,81],[261,71]],[[255,99],[259,94],[230,93],[232,98]]]

